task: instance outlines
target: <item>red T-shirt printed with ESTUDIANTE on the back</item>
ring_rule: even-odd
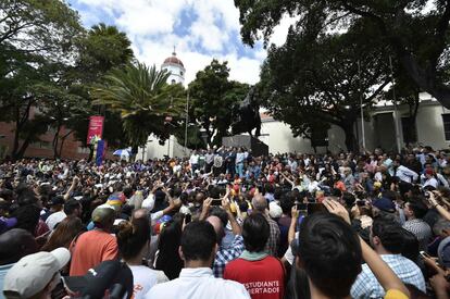
[[[271,256],[259,261],[236,259],[225,266],[225,279],[241,283],[252,299],[280,299],[285,289],[285,270]]]

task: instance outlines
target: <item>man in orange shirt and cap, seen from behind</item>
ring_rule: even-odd
[[[71,276],[85,275],[102,261],[117,259],[117,241],[111,235],[115,210],[109,205],[97,207],[92,212],[95,228],[79,235],[71,244]]]

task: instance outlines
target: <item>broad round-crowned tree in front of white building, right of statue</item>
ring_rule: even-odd
[[[284,46],[270,48],[263,64],[263,104],[296,136],[314,139],[314,132],[336,125],[346,134],[348,150],[358,150],[354,124],[361,103],[371,105],[390,82],[386,57],[363,34],[316,37],[317,32],[290,30]]]

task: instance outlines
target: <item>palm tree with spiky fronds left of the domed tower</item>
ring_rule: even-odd
[[[150,134],[167,139],[183,119],[185,89],[182,85],[167,85],[168,76],[166,71],[138,62],[113,70],[104,77],[104,84],[92,89],[95,104],[104,104],[121,114],[124,132],[135,149],[145,145]]]

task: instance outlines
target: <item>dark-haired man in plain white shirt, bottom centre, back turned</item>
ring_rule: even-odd
[[[211,265],[216,251],[213,226],[204,221],[189,223],[182,235],[179,256],[185,261],[185,267],[179,277],[155,285],[146,298],[249,299],[250,295],[241,284],[214,277]]]

